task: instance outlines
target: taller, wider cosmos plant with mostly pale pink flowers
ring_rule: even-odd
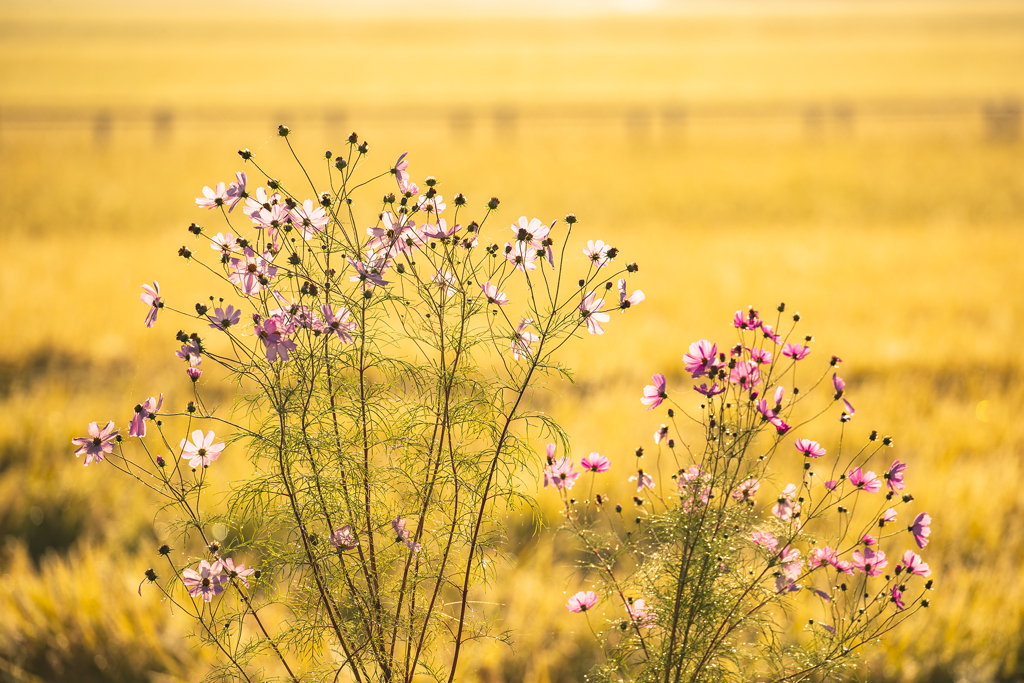
[[[187,321],[176,355],[194,400],[151,397],[127,434],[92,423],[74,439],[86,465],[164,501],[173,542],[140,591],[196,620],[214,679],[456,680],[466,643],[495,637],[477,603],[502,551],[497,513],[532,504],[517,487],[532,442],[565,441],[530,392],[567,376],[566,340],[643,299],[615,289],[636,266],[616,267],[614,248],[569,246],[574,216],[510,229],[492,199],[472,220],[434,178],[421,193],[404,155],[364,173],[368,153],[353,134],[293,184],[241,152],[264,180],[205,187],[197,204],[221,225],[194,223],[179,252],[223,296],[186,311],[142,288],[147,327],[168,310]],[[204,403],[211,365],[238,387],[231,414]],[[248,475],[218,488],[228,459]]]

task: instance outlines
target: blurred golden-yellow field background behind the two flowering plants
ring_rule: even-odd
[[[647,300],[546,399],[578,454],[632,464],[664,419],[638,400],[651,374],[682,386],[686,346],[738,308],[799,310],[935,519],[933,607],[862,677],[1024,680],[1024,3],[3,0],[0,65],[0,680],[208,666],[136,594],[153,501],[70,439],[188,398],[178,323],[146,330],[139,286],[211,293],[176,256],[213,221],[194,198],[243,147],[298,173],[282,123],[312,163],[354,130],[375,168],[408,151],[443,195],[499,197],[500,223],[574,212],[639,262]],[[580,578],[510,522],[494,599],[517,645],[464,678],[583,681]]]

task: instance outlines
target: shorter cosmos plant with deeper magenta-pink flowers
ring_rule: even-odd
[[[644,387],[641,403],[668,421],[636,451],[633,501],[594,494],[607,458],[579,471],[549,450],[546,483],[596,589],[566,604],[604,651],[591,680],[837,680],[928,607],[918,551],[931,517],[912,509],[907,467],[885,458],[892,438],[851,428],[840,358],[807,368],[813,339],[784,310],[736,311],[727,345],[683,355],[687,386],[654,375]],[[581,484],[591,493],[577,501]]]

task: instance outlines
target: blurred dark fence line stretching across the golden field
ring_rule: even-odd
[[[1024,104],[1015,98],[865,100],[830,102],[664,102],[647,104],[577,104],[490,106],[381,106],[323,108],[301,111],[252,109],[174,110],[171,108],[76,109],[0,105],[0,130],[89,130],[103,143],[120,128],[151,128],[157,139],[170,137],[176,128],[238,126],[245,124],[319,122],[332,129],[345,126],[440,124],[454,135],[465,135],[489,126],[499,136],[514,135],[536,126],[620,126],[627,134],[642,137],[656,131],[679,134],[688,125],[726,123],[742,125],[786,124],[808,136],[828,131],[853,134],[858,127],[896,127],[906,124],[975,127],[995,142],[1016,142],[1024,132]]]

